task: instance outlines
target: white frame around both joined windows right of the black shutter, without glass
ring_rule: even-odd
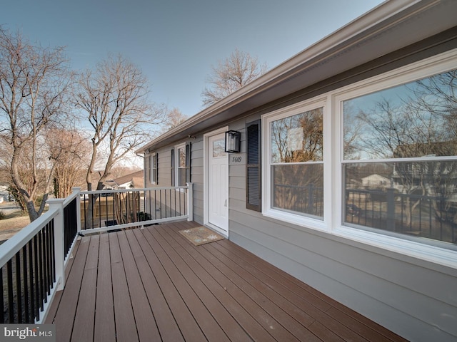
[[[457,268],[457,252],[433,244],[401,239],[381,232],[348,227],[343,222],[343,101],[361,95],[391,88],[421,78],[456,68],[457,49],[441,53],[368,78],[349,86],[333,90],[316,98],[297,103],[262,115],[262,214],[298,227],[328,232],[335,238],[342,237],[371,247]],[[303,217],[271,208],[271,142],[269,123],[278,118],[323,107],[323,220]],[[368,248],[368,247],[367,247]]]

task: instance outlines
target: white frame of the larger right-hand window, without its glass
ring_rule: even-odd
[[[368,232],[363,229],[348,227],[343,222],[343,101],[356,98],[368,93],[374,93],[386,88],[417,81],[421,78],[444,73],[456,68],[457,49],[441,53],[423,61],[408,64],[380,76],[353,83],[350,86],[338,89],[331,93],[333,113],[333,217],[337,219],[332,227],[332,233],[341,237],[371,244],[376,247],[406,254],[411,257],[431,261],[446,266],[457,266],[457,252],[431,244],[392,237],[387,234]],[[382,160],[381,160],[382,161]]]

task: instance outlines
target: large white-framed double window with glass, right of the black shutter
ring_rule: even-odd
[[[262,214],[455,263],[456,61],[449,51],[263,115]]]

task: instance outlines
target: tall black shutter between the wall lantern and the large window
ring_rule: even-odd
[[[261,121],[246,125],[246,208],[261,207]]]

